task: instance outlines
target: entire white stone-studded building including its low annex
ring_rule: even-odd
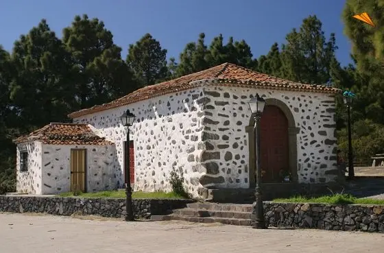
[[[277,186],[282,175],[291,175],[285,184],[335,182],[335,95],[340,90],[225,63],[73,112],[73,124],[43,128],[82,129],[74,135],[76,141],[56,143],[54,134],[38,141],[41,137],[32,138],[40,136],[36,133],[25,139],[30,141],[20,138],[17,191],[69,191],[72,149],[86,149],[82,180],[88,191],[122,187],[127,129],[119,116],[127,109],[136,115],[129,143],[135,191],[170,191],[173,168],[194,197],[206,198],[207,189],[252,188],[256,152],[248,101],[256,93],[266,101],[261,117],[263,182]],[[92,141],[80,141],[82,135],[93,136]],[[21,150],[28,150],[33,160],[29,173],[21,170]]]

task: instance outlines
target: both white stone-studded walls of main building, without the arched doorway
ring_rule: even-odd
[[[208,95],[207,91],[216,91],[219,97]],[[248,100],[256,92],[267,98],[280,99],[291,108],[296,126],[300,128],[299,181],[335,180],[335,175],[325,173],[335,169],[332,153],[336,146],[334,104],[329,102],[333,101],[333,97],[328,94],[204,86],[203,83],[202,87],[193,90],[77,117],[73,122],[89,123],[97,129],[99,136],[115,143],[117,181],[120,186],[123,185],[123,141],[126,130],[119,123],[118,117],[123,111],[130,109],[136,115],[136,121],[130,130],[135,149],[135,191],[170,191],[168,178],[173,167],[182,171],[186,179],[185,186],[193,196],[198,195],[201,182],[204,181],[205,186],[248,188],[249,150],[245,127],[250,123]],[[228,118],[221,115],[228,115]],[[219,123],[212,125],[207,119]],[[325,128],[324,125],[329,126]],[[320,131],[324,132],[320,134]],[[208,140],[213,149],[206,147],[204,143],[207,141],[206,136],[210,134],[219,134],[217,140]],[[224,140],[224,135],[228,139]],[[235,143],[238,144],[237,147],[234,146]],[[217,149],[218,145],[229,147]],[[211,156],[211,152],[219,152],[219,158],[206,157]],[[227,152],[232,155],[229,160],[225,159]],[[218,163],[219,171],[215,166],[206,168],[207,158]],[[213,183],[206,184],[207,180]]]

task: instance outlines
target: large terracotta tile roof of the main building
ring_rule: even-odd
[[[244,67],[239,67],[235,64],[224,63],[211,69],[206,69],[191,75],[185,75],[167,82],[160,84],[154,84],[140,88],[133,93],[130,93],[124,97],[111,101],[108,104],[102,104],[99,106],[93,106],[91,108],[78,110],[68,115],[70,118],[80,117],[82,115],[88,115],[94,112],[102,110],[108,110],[117,108],[119,106],[125,106],[137,101],[149,99],[150,97],[157,97],[168,93],[176,93],[178,91],[184,91],[194,86],[201,84],[191,84],[194,81],[200,80],[212,80],[217,85],[239,86],[257,86],[259,88],[272,88],[283,91],[304,91],[304,92],[317,92],[317,93],[339,93],[337,88],[331,88],[324,85],[311,85],[300,84],[283,80],[278,77],[266,75]]]

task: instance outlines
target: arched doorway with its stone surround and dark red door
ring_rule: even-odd
[[[269,111],[269,112],[268,112]],[[264,158],[261,168],[272,167],[273,173],[263,175],[263,182],[273,182],[276,178],[276,173],[280,172],[281,167],[285,165],[286,169],[291,173],[291,182],[298,182],[298,156],[297,156],[297,134],[300,128],[296,127],[295,120],[293,118],[292,112],[283,101],[279,99],[265,99],[265,109],[261,119],[261,135],[265,138],[261,138],[261,156]],[[269,122],[269,123],[268,123]],[[274,124],[276,122],[276,124]],[[280,123],[278,123],[280,122]],[[245,128],[248,132],[248,145],[249,145],[249,175],[250,175],[250,187],[254,187],[256,179],[256,168],[255,168],[255,158],[256,150],[254,149],[256,138],[254,136],[254,117],[250,117],[250,123]],[[263,134],[266,131],[267,133]],[[270,132],[269,132],[270,131]],[[276,132],[273,134],[273,132]],[[268,137],[269,136],[269,137]],[[280,136],[280,137],[279,137]],[[287,137],[286,137],[287,136]],[[280,138],[283,138],[285,141],[280,141]],[[269,143],[271,143],[269,145]],[[279,147],[279,145],[281,147]],[[276,148],[277,154],[276,153]],[[287,151],[284,151],[286,150]],[[275,150],[275,151],[274,151]],[[279,150],[282,150],[279,152]],[[285,155],[282,152],[287,154],[288,158],[284,158]],[[280,155],[279,155],[280,154]],[[276,161],[274,161],[276,158]],[[286,160],[287,159],[287,160]],[[269,160],[272,162],[269,163]],[[265,165],[267,163],[267,165]],[[269,165],[270,164],[270,165]],[[280,168],[279,168],[280,167]]]

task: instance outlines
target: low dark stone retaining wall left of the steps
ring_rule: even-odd
[[[136,219],[149,219],[151,215],[167,215],[171,210],[184,208],[192,200],[132,200]],[[0,195],[0,212],[48,213],[51,215],[99,215],[121,218],[125,215],[125,199],[80,197],[8,197]]]

